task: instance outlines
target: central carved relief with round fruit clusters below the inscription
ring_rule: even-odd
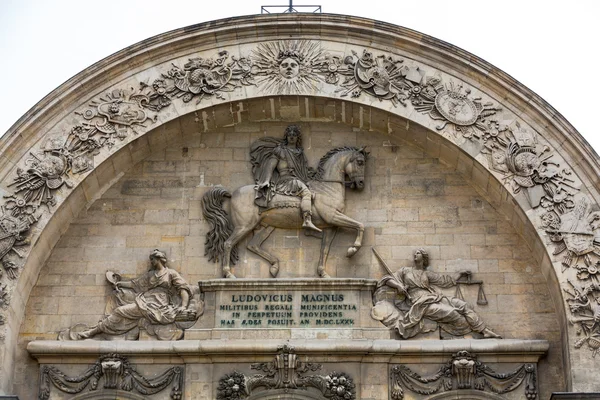
[[[288,398],[295,393],[301,398],[326,398],[331,400],[355,400],[356,385],[344,372],[320,375],[316,372],[321,364],[300,361],[293,347],[279,346],[278,354],[268,363],[255,363],[250,369],[256,374],[246,375],[238,371],[225,374],[217,386],[217,399],[244,400],[263,398],[261,394]],[[317,396],[308,396],[310,393]],[[295,396],[293,396],[296,398]],[[271,398],[271,397],[269,397]],[[275,397],[272,397],[275,398]]]

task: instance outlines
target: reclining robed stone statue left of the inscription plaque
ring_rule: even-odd
[[[204,313],[199,289],[167,266],[166,254],[150,254],[151,269],[130,281],[108,271],[114,289],[106,315],[94,326],[77,324],[61,331],[58,340],[138,340],[140,332],[157,340],[179,340]]]

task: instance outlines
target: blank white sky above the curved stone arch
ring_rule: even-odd
[[[0,133],[71,76],[159,33],[288,0],[0,0]],[[542,96],[600,152],[600,0],[295,0],[459,46]]]

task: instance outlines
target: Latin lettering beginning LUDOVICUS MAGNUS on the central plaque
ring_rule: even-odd
[[[355,300],[344,293],[227,294],[217,306],[220,328],[352,327]]]

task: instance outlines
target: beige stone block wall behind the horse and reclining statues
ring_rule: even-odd
[[[156,152],[122,176],[71,224],[29,297],[15,375],[21,398],[34,398],[37,390],[32,377],[37,376],[38,366],[28,358],[26,343],[54,339],[59,330],[75,323],[95,324],[110,292],[105,283],[107,270],[128,278],[139,275],[148,269],[150,251],[159,248],[166,251],[171,268],[188,282],[220,278],[218,265],[204,256],[208,226],[202,219],[200,199],[214,185],[232,190],[252,183],[250,143],[263,136],[281,137],[286,125],[239,124]],[[463,289],[463,295],[490,327],[504,338],[550,342],[548,357],[539,365],[540,397],[564,389],[555,305],[530,249],[509,221],[459,172],[409,143],[344,124],[300,125],[312,166],[333,147],[366,145],[371,153],[365,190],[346,192],[346,213],[366,227],[364,247],[347,259],[346,249],[355,234],[338,233],[328,272],[336,277],[380,278],[384,271],[371,246],[394,270],[411,265],[412,252],[420,247],[429,252],[434,271],[470,270],[485,282],[489,304],[475,304],[476,286]],[[247,240],[240,245],[236,275],[268,278],[268,263],[245,249]],[[279,277],[317,279],[319,246],[318,239],[301,231],[276,230],[264,248],[280,258]],[[202,324],[201,319],[198,326]],[[226,338],[227,332],[219,335]]]

